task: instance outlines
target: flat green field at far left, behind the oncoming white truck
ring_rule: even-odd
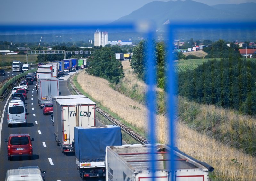
[[[27,55],[0,55],[0,69],[10,68],[13,60],[27,63]],[[37,55],[28,55],[28,63],[36,64]]]

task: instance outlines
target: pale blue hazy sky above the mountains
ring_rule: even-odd
[[[1,0],[0,24],[109,23],[153,0]],[[167,2],[169,0],[159,0]],[[208,5],[256,0],[195,0]]]

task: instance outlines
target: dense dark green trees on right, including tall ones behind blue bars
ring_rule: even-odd
[[[163,42],[155,43],[154,60],[157,70],[156,82],[161,88],[166,87],[165,71],[166,48]],[[180,72],[177,75],[177,94],[189,100],[203,104],[214,104],[223,108],[232,108],[247,114],[255,114],[256,105],[256,64],[241,58],[238,47],[226,45],[224,40],[212,43],[208,53],[211,58],[221,58],[203,63],[194,70]],[[148,63],[147,43],[141,41],[133,49],[131,67],[134,73],[145,80]],[[177,60],[182,53],[174,52]]]

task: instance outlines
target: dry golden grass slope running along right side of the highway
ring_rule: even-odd
[[[129,61],[123,61],[127,89],[136,88],[145,94],[146,86],[132,74]],[[114,91],[107,80],[93,77],[84,72],[77,77],[83,90],[111,112],[126,122],[147,132],[147,109],[142,104]],[[161,91],[158,89],[158,91]],[[164,116],[156,115],[156,137],[161,143],[168,143],[168,123]],[[221,144],[206,134],[199,134],[181,121],[176,122],[176,144],[186,154],[212,165],[215,170],[212,180],[254,180],[256,159],[242,151]]]

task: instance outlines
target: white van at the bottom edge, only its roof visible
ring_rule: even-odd
[[[5,181],[45,181],[42,173],[45,173],[45,171],[41,171],[38,166],[19,167],[18,169],[7,170]]]

